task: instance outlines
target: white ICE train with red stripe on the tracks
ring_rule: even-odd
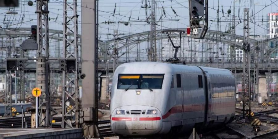
[[[212,127],[235,115],[229,70],[160,62],[120,65],[113,77],[111,128],[122,136]]]

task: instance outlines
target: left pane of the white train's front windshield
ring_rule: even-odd
[[[118,89],[138,89],[140,74],[119,74]]]

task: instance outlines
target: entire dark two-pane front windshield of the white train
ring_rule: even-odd
[[[161,89],[164,74],[119,74],[117,89]]]

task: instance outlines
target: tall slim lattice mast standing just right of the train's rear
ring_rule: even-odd
[[[248,112],[248,117],[251,114],[251,92],[250,92],[250,44],[249,44],[249,8],[244,8],[243,21],[243,71],[242,71],[242,116],[245,117]]]

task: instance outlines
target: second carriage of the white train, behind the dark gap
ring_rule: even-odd
[[[208,79],[208,119],[223,122],[234,116],[235,78],[229,70],[200,67]]]

